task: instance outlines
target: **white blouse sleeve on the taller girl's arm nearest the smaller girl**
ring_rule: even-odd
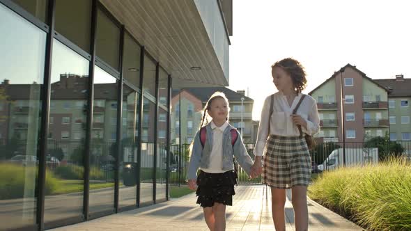
[[[268,115],[270,113],[270,103],[272,103],[271,96],[268,96],[267,98],[265,98],[263,109],[261,110],[261,119],[260,125],[258,125],[257,141],[253,151],[255,156],[263,155],[265,143],[267,142],[267,137],[270,134],[270,131],[268,131],[268,125],[270,123],[270,115]]]

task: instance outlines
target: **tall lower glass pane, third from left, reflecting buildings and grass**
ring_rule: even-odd
[[[90,152],[90,212],[114,209],[118,81],[95,66]],[[92,190],[98,186],[99,190]]]

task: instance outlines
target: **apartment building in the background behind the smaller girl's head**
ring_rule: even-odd
[[[226,95],[230,102],[230,123],[242,132],[245,143],[254,143],[252,109],[254,100],[245,96],[244,90],[237,92],[224,87],[183,88],[173,92],[171,99],[171,143],[191,143],[200,127],[202,110],[210,96],[216,91]],[[181,134],[180,134],[181,132]]]

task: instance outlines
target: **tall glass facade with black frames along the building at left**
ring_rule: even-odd
[[[93,25],[91,1],[50,2],[55,28],[47,0],[0,1],[0,230],[168,199],[169,74],[101,4]]]

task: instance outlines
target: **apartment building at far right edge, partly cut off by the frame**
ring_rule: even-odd
[[[389,138],[391,141],[411,141],[411,79],[403,74],[395,79],[375,79],[388,90]]]

